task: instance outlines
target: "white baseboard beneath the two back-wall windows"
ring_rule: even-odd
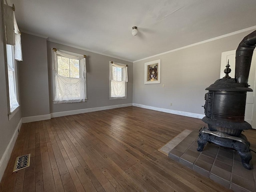
[[[132,103],[51,113],[51,118],[132,106]]]

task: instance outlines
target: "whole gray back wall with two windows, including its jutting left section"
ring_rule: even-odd
[[[53,47],[87,55],[87,102],[53,104]],[[132,103],[132,62],[48,42],[26,33],[22,33],[22,51],[23,61],[19,64],[22,117]],[[128,65],[127,99],[109,100],[109,61]]]

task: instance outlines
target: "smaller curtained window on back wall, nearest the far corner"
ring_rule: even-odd
[[[110,99],[127,98],[127,66],[110,61]]]

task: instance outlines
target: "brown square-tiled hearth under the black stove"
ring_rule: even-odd
[[[202,152],[196,148],[198,131],[192,131],[170,150],[168,156],[235,192],[256,192],[256,154],[251,152],[253,170],[242,166],[241,158],[230,148],[207,143]],[[251,148],[255,151],[254,148]]]

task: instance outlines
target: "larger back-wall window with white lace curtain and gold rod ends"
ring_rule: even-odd
[[[84,102],[86,56],[53,48],[54,103]]]

